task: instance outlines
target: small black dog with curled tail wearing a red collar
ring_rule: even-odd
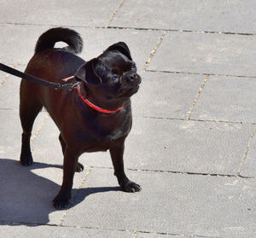
[[[54,49],[58,41],[68,46]],[[61,132],[64,175],[61,190],[53,200],[57,209],[68,205],[74,172],[84,169],[78,162],[84,152],[109,149],[121,189],[126,192],[141,190],[126,177],[123,162],[125,137],[131,131],[130,97],[141,83],[130,50],[125,43],[119,42],[85,62],[74,55],[81,52],[82,46],[79,33],[61,27],[49,29],[38,38],[35,55],[26,67],[26,73],[56,83],[73,75],[70,82],[79,82],[75,90],[53,90],[24,79],[20,83],[23,129],[20,164],[32,164],[32,125],[42,107],[47,109]]]

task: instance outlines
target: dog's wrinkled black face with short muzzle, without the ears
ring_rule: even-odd
[[[102,94],[108,100],[124,100],[139,89],[142,78],[134,61],[117,50],[105,51],[97,58],[96,74],[102,79]]]

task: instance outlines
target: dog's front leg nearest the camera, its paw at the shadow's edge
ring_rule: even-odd
[[[56,209],[63,209],[69,204],[73,187],[73,176],[78,164],[79,156],[67,147],[64,153],[63,182],[59,194],[53,200]]]

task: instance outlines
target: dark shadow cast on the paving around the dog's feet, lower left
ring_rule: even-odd
[[[15,160],[0,159],[0,224],[37,225],[49,222],[49,214],[56,212],[51,201],[61,186],[33,172],[49,167],[62,169],[61,165],[44,163],[24,167]],[[119,190],[119,187],[73,189],[76,199],[72,200],[71,207],[78,205],[90,194]],[[61,218],[61,214],[58,216],[57,212],[52,216]]]

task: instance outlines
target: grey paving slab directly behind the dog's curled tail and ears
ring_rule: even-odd
[[[51,27],[53,26],[0,25],[0,58],[5,63],[17,62],[26,65],[34,53],[39,36]],[[84,49],[80,56],[85,61],[102,54],[111,44],[125,41],[131,50],[133,60],[137,62],[138,69],[143,68],[162,34],[161,31],[71,28],[79,32],[84,39]]]

